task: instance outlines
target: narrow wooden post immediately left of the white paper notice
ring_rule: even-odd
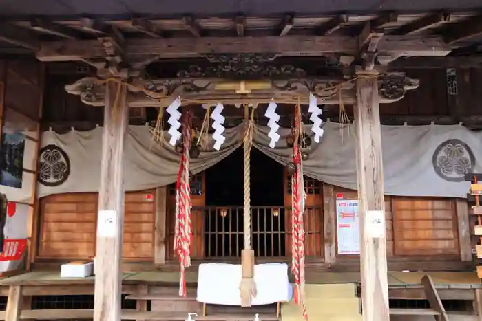
[[[335,264],[337,257],[334,190],[333,185],[323,183],[324,254],[325,263],[330,265]]]

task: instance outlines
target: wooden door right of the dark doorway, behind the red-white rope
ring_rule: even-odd
[[[305,254],[311,257],[324,256],[323,227],[323,184],[321,181],[304,177],[306,206],[304,210]],[[286,256],[291,256],[291,175],[284,170],[284,206],[286,226]]]

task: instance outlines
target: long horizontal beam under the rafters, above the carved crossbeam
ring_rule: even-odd
[[[132,58],[191,58],[205,54],[280,54],[284,56],[356,55],[358,38],[351,36],[263,36],[126,39],[125,54]],[[450,47],[440,36],[384,36],[378,43],[380,54],[401,56],[446,56]],[[98,41],[45,42],[37,53],[41,61],[85,60],[105,56]]]

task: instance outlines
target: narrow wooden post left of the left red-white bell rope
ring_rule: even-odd
[[[156,188],[156,227],[154,234],[154,263],[166,263],[167,186]]]

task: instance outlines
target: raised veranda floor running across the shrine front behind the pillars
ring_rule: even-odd
[[[412,287],[421,284],[424,275],[430,275],[437,287],[453,287],[459,289],[482,288],[481,279],[476,272],[388,272],[388,285],[391,288]],[[198,274],[186,273],[187,283],[196,285]],[[309,272],[306,274],[308,284],[326,283],[360,283],[357,272]],[[176,285],[179,282],[178,272],[127,272],[123,275],[123,284],[148,283],[156,285]],[[0,280],[0,286],[8,285],[65,285],[92,284],[94,276],[87,278],[61,278],[60,272],[27,272]]]

